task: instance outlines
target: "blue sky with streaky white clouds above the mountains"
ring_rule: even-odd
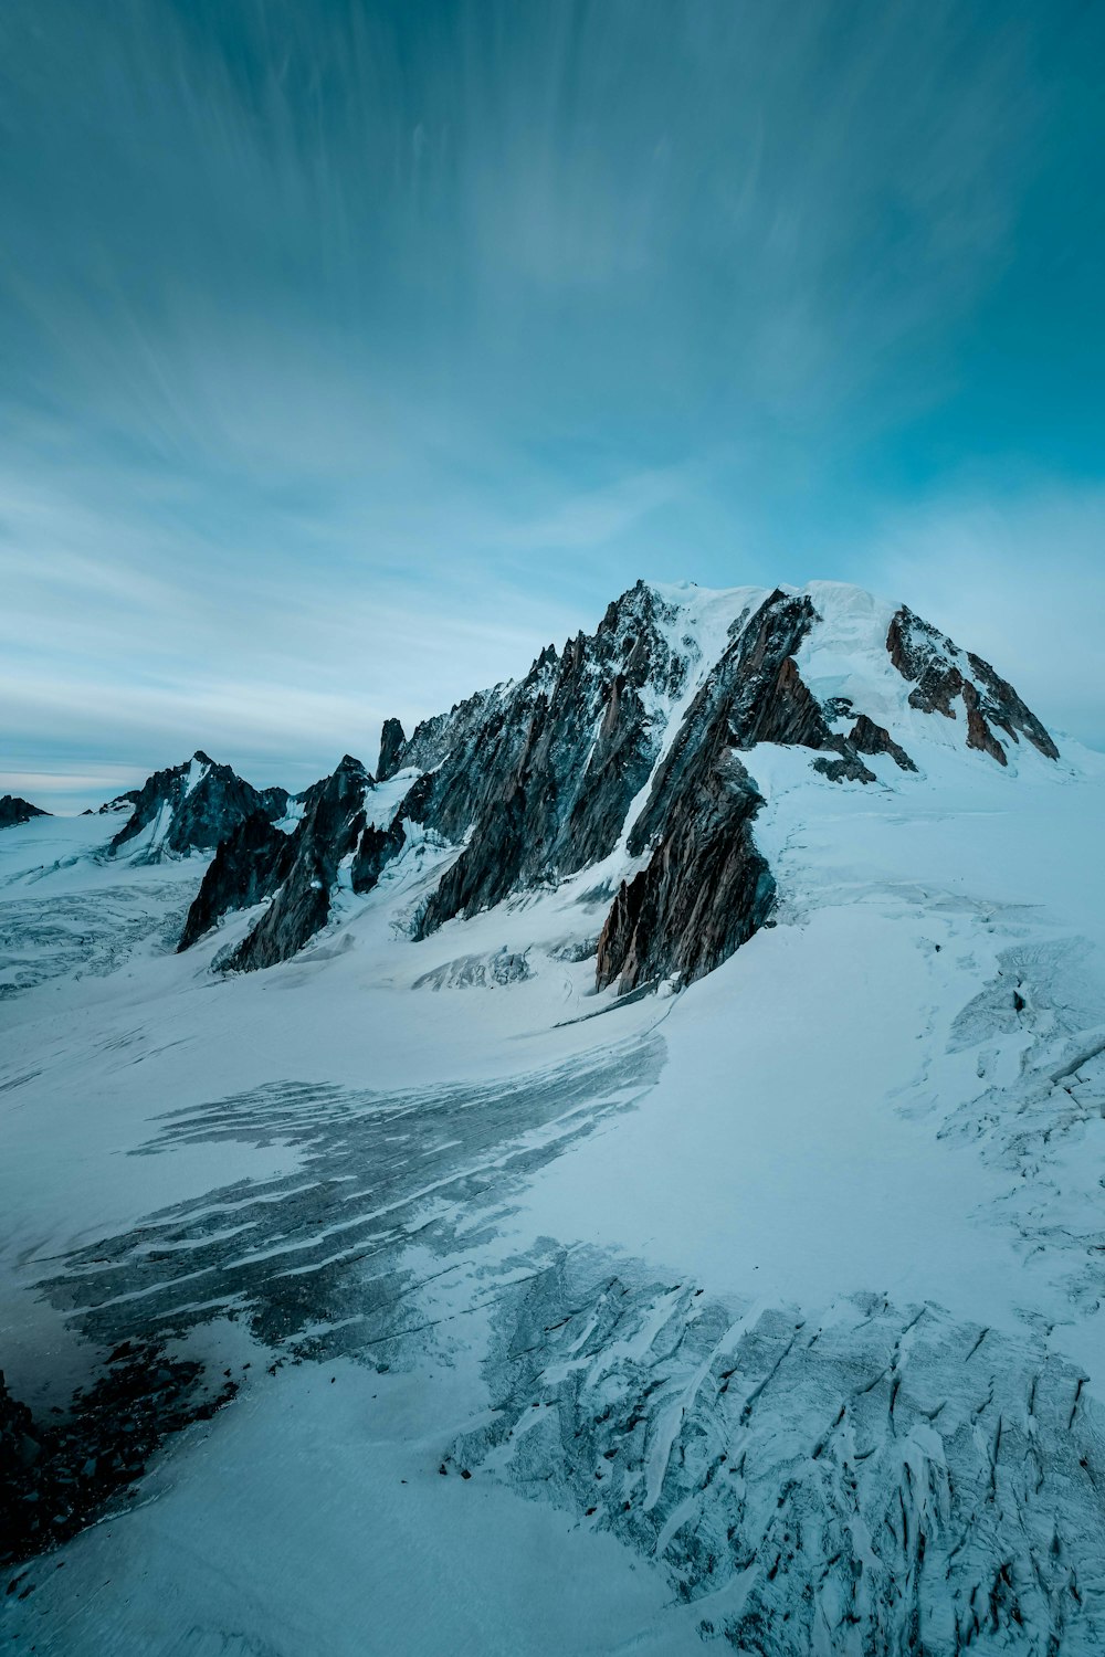
[[[0,13],[0,789],[303,785],[638,575],[1105,746],[1105,8]]]

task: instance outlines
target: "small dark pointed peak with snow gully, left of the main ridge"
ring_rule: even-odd
[[[156,771],[138,790],[134,812],[111,842],[113,855],[151,832],[146,857],[214,850],[253,812],[280,817],[287,810],[283,789],[257,789],[197,752],[189,764]]]

